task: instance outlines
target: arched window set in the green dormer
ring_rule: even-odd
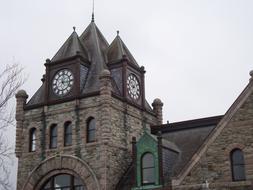
[[[155,183],[155,161],[151,153],[145,153],[141,160],[142,185]]]

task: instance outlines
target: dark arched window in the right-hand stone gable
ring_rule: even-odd
[[[233,181],[245,180],[245,164],[243,152],[240,149],[234,149],[230,153],[231,169]]]

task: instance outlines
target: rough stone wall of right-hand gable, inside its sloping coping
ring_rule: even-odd
[[[244,153],[246,181],[232,182],[230,152],[240,148]],[[216,140],[195,165],[180,187],[200,189],[207,180],[212,190],[253,189],[253,94],[237,111]]]

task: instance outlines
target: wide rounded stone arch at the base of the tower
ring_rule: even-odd
[[[69,174],[79,177],[87,190],[100,190],[95,172],[83,160],[69,155],[59,155],[48,158],[35,167],[30,173],[22,190],[40,190],[52,176]]]

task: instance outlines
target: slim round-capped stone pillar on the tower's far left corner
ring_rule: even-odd
[[[19,90],[16,94],[16,157],[19,158],[21,155],[21,143],[22,143],[22,131],[24,122],[24,106],[28,95],[26,91]]]

